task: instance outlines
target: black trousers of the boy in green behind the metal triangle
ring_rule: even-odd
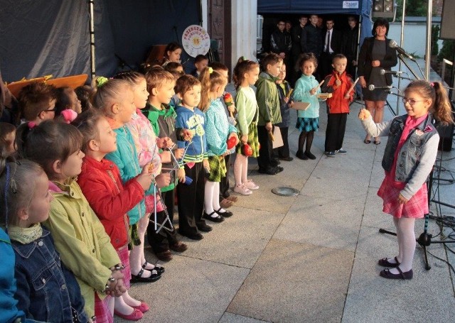
[[[173,222],[173,204],[174,204],[174,190],[168,192],[162,192],[161,196],[163,197],[164,204],[166,205],[167,212],[169,214],[169,219]],[[154,214],[150,215],[151,219],[154,218]],[[156,213],[156,219],[158,223],[163,223],[164,219],[166,219],[166,214],[164,211]],[[165,224],[166,227],[169,227],[168,222]],[[153,223],[150,223],[147,226],[147,240],[151,246],[151,249],[154,253],[163,252],[169,249],[169,245],[173,245],[177,243],[177,232],[174,228],[173,231],[168,231],[164,228],[159,231],[157,234],[155,232],[155,226]]]

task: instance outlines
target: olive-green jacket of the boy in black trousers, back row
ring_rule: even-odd
[[[256,99],[259,106],[258,126],[265,126],[267,122],[279,124],[282,113],[279,110],[279,93],[275,81],[277,77],[262,72],[256,82]]]

